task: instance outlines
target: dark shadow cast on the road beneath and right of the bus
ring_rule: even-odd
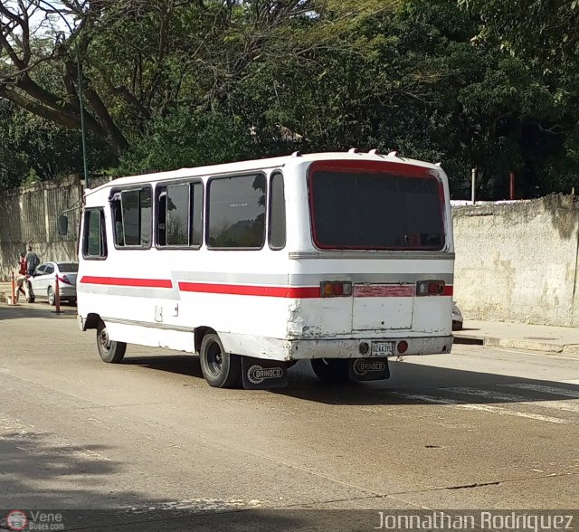
[[[127,356],[123,364],[154,371],[203,378],[198,356]],[[318,381],[301,361],[289,369],[289,385],[271,390],[271,394],[294,397],[323,404],[440,404],[456,399],[460,404],[508,404],[536,401],[579,399],[579,385],[512,375],[495,375],[476,371],[422,366],[413,362],[390,363],[391,378],[370,383],[328,385]],[[508,386],[506,386],[508,385]],[[513,386],[514,385],[514,386]],[[474,390],[478,394],[465,394]],[[227,394],[227,390],[221,393]],[[252,391],[244,391],[252,394]],[[428,398],[421,398],[428,397]],[[576,405],[579,413],[579,405]],[[569,406],[573,410],[574,405]]]

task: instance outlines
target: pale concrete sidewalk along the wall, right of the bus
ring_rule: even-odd
[[[455,344],[510,347],[547,353],[579,353],[579,328],[465,320],[454,331]]]

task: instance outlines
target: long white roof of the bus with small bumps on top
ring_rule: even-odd
[[[197,176],[214,176],[216,174],[230,174],[233,172],[244,172],[255,169],[266,168],[280,168],[289,165],[298,165],[302,163],[319,161],[319,160],[373,160],[373,161],[388,161],[395,163],[403,163],[413,166],[424,166],[432,169],[440,169],[440,166],[426,163],[415,159],[408,159],[399,157],[396,152],[391,154],[379,153],[363,153],[363,152],[327,152],[327,153],[313,153],[301,155],[299,152],[290,156],[271,157],[263,159],[252,159],[247,161],[240,161],[234,163],[225,163],[221,165],[211,166],[194,166],[190,168],[179,168],[177,170],[169,170],[165,172],[153,172],[150,174],[140,174],[138,176],[119,177],[100,185],[93,189],[86,189],[85,195],[90,195],[94,192],[100,191],[111,186],[126,186],[138,185],[143,182],[156,183],[159,181],[170,181],[173,179],[180,179],[185,177]]]

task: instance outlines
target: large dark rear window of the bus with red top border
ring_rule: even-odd
[[[339,166],[338,166],[339,165]],[[428,169],[392,163],[314,163],[309,204],[320,249],[441,250],[441,182]]]

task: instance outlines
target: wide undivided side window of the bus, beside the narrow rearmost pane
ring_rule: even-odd
[[[259,250],[265,243],[265,176],[214,177],[208,184],[208,246]]]

